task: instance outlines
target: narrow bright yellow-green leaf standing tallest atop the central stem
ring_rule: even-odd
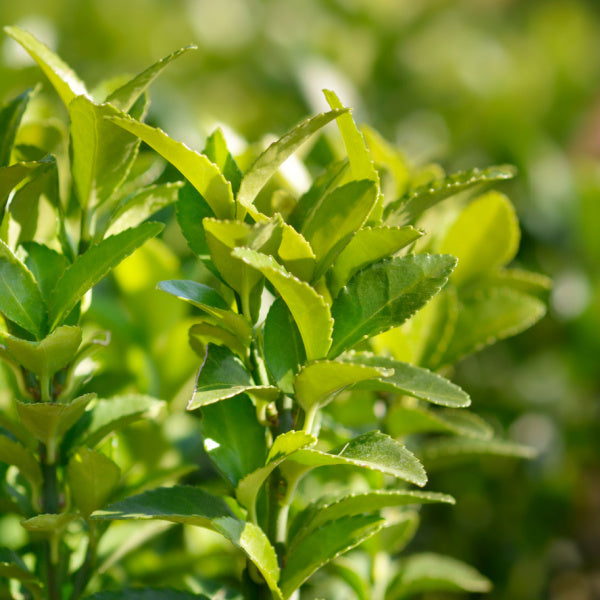
[[[339,98],[331,90],[323,90],[325,98],[332,109],[343,109],[344,106],[340,102]],[[344,140],[344,146],[346,147],[346,153],[350,161],[350,168],[352,170],[353,179],[370,179],[375,183],[376,198],[379,200],[377,209],[374,206],[370,207],[376,214],[373,215],[374,221],[381,220],[382,215],[382,199],[379,198],[379,173],[371,158],[371,153],[365,143],[365,138],[356,126],[352,114],[350,112],[344,113],[337,118],[337,124]]]

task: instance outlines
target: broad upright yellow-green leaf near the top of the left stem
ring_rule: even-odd
[[[71,169],[77,199],[83,208],[105,202],[123,183],[139,140],[109,117],[119,115],[110,104],[95,104],[77,96],[69,104]]]

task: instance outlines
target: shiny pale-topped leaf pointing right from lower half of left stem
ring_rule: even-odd
[[[141,394],[97,400],[65,436],[65,443],[69,448],[84,445],[93,448],[113,431],[146,416],[156,416],[163,406],[163,401]]]

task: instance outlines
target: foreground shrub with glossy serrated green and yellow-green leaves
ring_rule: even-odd
[[[79,597],[110,522],[162,520],[229,540],[245,556],[237,580],[234,562],[228,578],[212,583],[182,579],[177,591],[94,597],[394,600],[487,590],[488,580],[463,563],[401,550],[420,505],[453,502],[422,489],[425,466],[528,454],[468,411],[467,393],[441,374],[544,312],[539,297],[548,282],[507,267],[518,224],[508,198],[489,191],[513,170],[445,176],[437,166],[411,169],[326,91],[329,112],[298,125],[242,171],[220,130],[200,153],[142,122],[144,89],[172,57],[99,103],[48,49],[17,29],[8,33],[69,109],[73,194],[61,199],[40,185],[50,172],[56,187],[51,158],[21,160],[34,150],[19,145],[4,152],[10,202],[0,308],[20,421],[2,417],[0,459],[12,465],[5,487],[18,498],[32,544],[39,535],[47,541],[45,554],[33,552],[33,566],[3,551],[0,576],[25,597]],[[2,148],[11,148],[26,101],[6,105]],[[342,144],[323,130],[332,122]],[[314,138],[331,160],[321,160],[310,187],[297,193],[280,167]],[[139,140],[184,181],[119,194]],[[28,189],[56,215],[55,235],[42,242],[39,227],[20,218]],[[158,285],[194,307],[189,340],[201,368],[188,410],[200,417],[198,435],[223,485],[124,497],[118,467],[96,447],[152,401],[92,405],[90,396],[77,397],[90,376],[83,358],[98,345],[94,338],[81,345],[81,299],[158,233],[160,226],[142,222],[175,197],[180,229],[207,275]],[[111,494],[124,499],[107,506]],[[69,562],[62,540],[74,531],[88,537],[88,551],[69,577],[77,561]]]

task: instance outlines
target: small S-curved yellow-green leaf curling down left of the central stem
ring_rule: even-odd
[[[269,449],[265,464],[251,473],[248,473],[238,482],[235,495],[239,503],[247,508],[250,514],[256,514],[256,497],[267,477],[276,467],[288,458],[288,456],[294,454],[294,452],[300,448],[313,446],[316,443],[317,438],[304,433],[303,431],[288,431],[278,435]]]

